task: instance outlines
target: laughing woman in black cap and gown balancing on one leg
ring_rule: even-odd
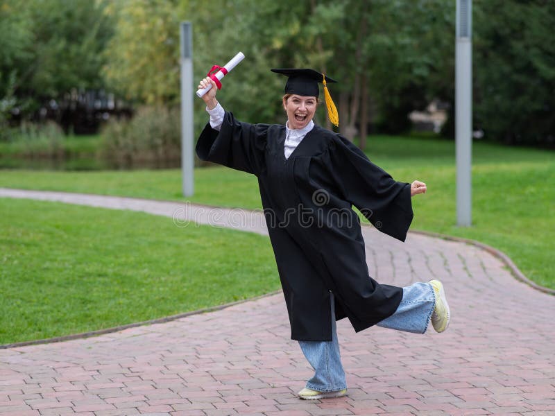
[[[258,177],[266,224],[283,288],[291,338],[300,344],[315,374],[302,399],[346,394],[336,320],[355,331],[375,324],[424,333],[430,318],[445,331],[450,311],[441,282],[405,288],[378,284],[368,275],[364,240],[355,205],[381,232],[404,241],[413,218],[411,197],[426,184],[395,182],[342,137],[312,121],[318,83],[328,113],[334,105],[327,83],[312,69],[272,69],[287,76],[282,98],[285,125],[242,123],[225,112],[212,84],[203,100],[210,114],[196,145],[200,159]],[[334,120],[332,120],[334,121]]]

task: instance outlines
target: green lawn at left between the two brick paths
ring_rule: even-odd
[[[268,239],[171,218],[0,198],[0,344],[225,304],[280,288]]]

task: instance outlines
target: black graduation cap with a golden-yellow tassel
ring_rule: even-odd
[[[280,69],[273,68],[272,72],[281,73],[287,76],[287,83],[285,83],[285,94],[298,94],[300,96],[314,96],[318,97],[320,89],[318,83],[324,85],[325,105],[327,107],[327,116],[334,125],[339,125],[339,114],[335,107],[330,92],[327,91],[326,83],[336,83],[336,80],[325,76],[323,73],[314,71],[314,69]]]

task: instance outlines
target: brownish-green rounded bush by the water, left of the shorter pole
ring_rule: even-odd
[[[179,166],[180,112],[142,107],[133,119],[112,119],[102,130],[101,157],[112,167]]]

